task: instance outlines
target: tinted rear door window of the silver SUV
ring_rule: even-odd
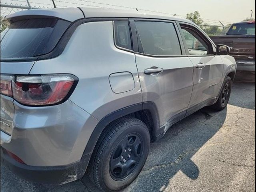
[[[135,22],[142,50],[150,55],[181,55],[180,43],[172,23]]]

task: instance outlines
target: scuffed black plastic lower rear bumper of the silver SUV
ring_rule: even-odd
[[[62,185],[82,178],[89,160],[90,155],[86,155],[79,162],[67,166],[29,166],[12,159],[1,147],[1,164],[26,180],[44,184]]]

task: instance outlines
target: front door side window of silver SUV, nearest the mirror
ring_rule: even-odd
[[[200,36],[198,36],[198,34],[196,34],[196,32],[194,32],[194,30],[190,28],[182,28],[182,33],[190,55],[208,54],[207,44],[200,38]]]

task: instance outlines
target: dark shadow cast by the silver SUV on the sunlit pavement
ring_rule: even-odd
[[[179,171],[196,180],[200,170],[191,158],[222,127],[226,114],[226,110],[216,112],[206,107],[172,126],[164,138],[151,144],[141,174],[124,192],[163,191]]]

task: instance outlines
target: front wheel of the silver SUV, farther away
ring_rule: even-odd
[[[212,108],[216,110],[224,110],[228,105],[232,90],[232,79],[228,76],[224,82],[224,86],[221,90],[220,96],[215,104],[212,105]]]

